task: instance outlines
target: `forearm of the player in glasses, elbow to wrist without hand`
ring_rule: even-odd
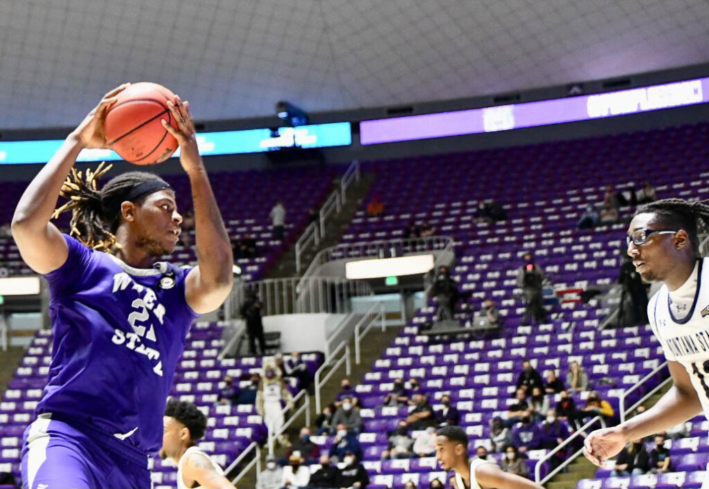
[[[679,425],[702,412],[696,393],[672,386],[649,410],[627,420],[620,429],[627,441],[641,439]]]

